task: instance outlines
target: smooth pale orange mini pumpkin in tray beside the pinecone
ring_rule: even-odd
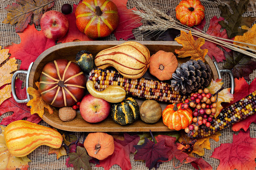
[[[172,79],[172,74],[178,67],[176,56],[162,50],[153,54],[149,62],[149,72],[159,80]]]

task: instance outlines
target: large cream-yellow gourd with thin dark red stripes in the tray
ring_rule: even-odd
[[[96,55],[94,63],[97,68],[115,67],[123,76],[138,79],[146,73],[149,60],[147,47],[139,42],[128,41],[102,50]]]

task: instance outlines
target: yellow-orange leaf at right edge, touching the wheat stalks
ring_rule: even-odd
[[[247,29],[248,31],[246,33],[244,33],[243,35],[235,36],[234,41],[239,41],[239,42],[256,45],[256,24],[254,24],[251,28],[249,28],[247,26],[242,26],[242,29]],[[239,43],[239,42],[233,42],[233,44],[243,46],[243,47],[244,46],[249,47],[251,49],[256,50],[256,46],[251,46],[251,45],[247,45],[247,44],[243,44],[243,43]]]

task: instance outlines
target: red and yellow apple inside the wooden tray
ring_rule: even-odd
[[[85,121],[96,123],[108,117],[110,113],[110,103],[88,94],[82,99],[79,109]]]

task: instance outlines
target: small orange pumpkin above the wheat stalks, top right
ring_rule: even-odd
[[[182,0],[175,11],[176,18],[189,27],[200,24],[204,19],[204,6],[199,0]]]

